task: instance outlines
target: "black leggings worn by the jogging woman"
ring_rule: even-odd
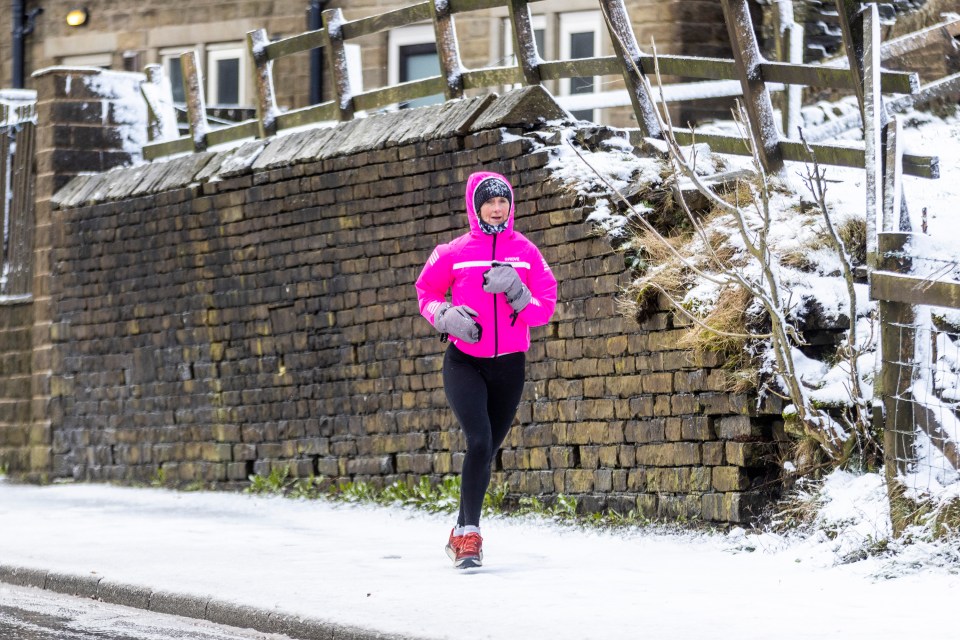
[[[500,450],[523,394],[526,356],[469,356],[454,345],[443,358],[443,390],[464,435],[467,454],[460,484],[459,526],[480,526],[490,465]]]

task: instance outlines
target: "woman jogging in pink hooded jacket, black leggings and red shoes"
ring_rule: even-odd
[[[507,179],[474,173],[466,191],[470,231],[438,246],[417,279],[420,313],[450,341],[443,388],[467,440],[460,514],[446,547],[458,569],[483,561],[480,510],[523,393],[529,327],[549,322],[557,301],[547,262],[513,229]]]

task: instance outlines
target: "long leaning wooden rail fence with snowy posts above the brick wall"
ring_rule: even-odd
[[[789,62],[769,62],[760,54],[749,18],[747,0],[721,0],[733,44],[734,58],[704,58],[662,55],[657,57],[664,75],[705,80],[739,80],[743,101],[750,115],[753,133],[761,141],[761,160],[768,171],[777,171],[785,160],[805,161],[807,153],[797,140],[783,139],[774,124],[774,112],[768,83],[814,85],[818,87],[862,92],[862,76],[856,65],[850,69]],[[836,0],[838,5],[850,4]],[[859,3],[856,3],[859,5]],[[531,13],[526,0],[429,0],[387,13],[348,21],[340,9],[323,12],[323,28],[271,41],[265,30],[252,31],[247,43],[254,61],[257,87],[257,117],[238,124],[212,128],[205,115],[203,83],[196,54],[181,56],[190,135],[160,140],[144,148],[144,156],[153,159],[174,153],[199,151],[209,146],[250,137],[266,137],[283,129],[331,120],[349,120],[356,113],[380,109],[405,101],[435,94],[446,99],[463,96],[471,89],[491,89],[511,84],[538,84],[546,80],[588,76],[622,77],[630,94],[639,127],[631,131],[635,144],[644,138],[660,137],[654,105],[643,89],[642,76],[651,74],[654,56],[640,50],[623,0],[598,0],[603,12],[614,55],[578,60],[545,61],[536,48]],[[494,7],[509,10],[513,26],[516,64],[512,66],[466,69],[462,65],[454,29],[458,13]],[[844,14],[846,15],[846,14]],[[351,78],[344,44],[375,33],[418,22],[432,21],[436,33],[441,73],[438,76],[405,82],[361,93],[351,90]],[[846,32],[845,32],[846,35]],[[272,66],[275,60],[295,53],[323,47],[333,77],[335,95],[327,102],[282,111],[277,107]],[[881,89],[885,93],[916,94],[920,83],[916,74],[883,71]],[[159,104],[148,98],[156,112]],[[678,129],[677,138],[689,143],[693,132]],[[697,134],[721,153],[745,154],[747,147],[736,136]],[[863,148],[851,145],[815,144],[814,151],[823,164],[864,167]],[[937,158],[906,154],[903,157],[906,175],[935,178]]]

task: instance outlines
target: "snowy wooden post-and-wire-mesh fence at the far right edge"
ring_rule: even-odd
[[[839,2],[839,0],[838,0]],[[867,267],[870,274],[870,297],[878,301],[880,325],[879,371],[874,382],[874,424],[883,432],[884,462],[891,498],[898,495],[905,474],[916,473],[924,461],[915,446],[923,433],[952,472],[960,471],[960,434],[953,433],[957,424],[956,403],[934,400],[935,394],[918,394],[916,383],[936,368],[931,350],[921,344],[930,339],[928,322],[918,319],[917,306],[928,305],[960,309],[960,282],[911,274],[914,263],[926,258],[911,253],[918,235],[911,228],[910,216],[902,198],[902,152],[900,124],[882,102],[878,76],[881,59],[888,47],[880,43],[879,17],[871,5],[858,16],[862,39],[856,63],[862,69],[863,93],[858,94],[863,106],[865,155],[867,159]],[[854,23],[853,20],[847,24]],[[957,22],[937,25],[915,34],[914,44],[923,46],[931,34],[946,33],[954,37],[960,32]],[[846,27],[845,27],[846,28]],[[901,39],[896,46],[907,45]],[[925,89],[936,96],[944,87],[956,90],[960,74],[931,83]],[[960,263],[941,273],[956,272]],[[960,340],[960,335],[956,336]],[[935,352],[935,350],[934,350]],[[935,356],[934,356],[935,358]],[[951,428],[947,428],[950,425]],[[898,488],[900,487],[900,488]],[[913,487],[911,487],[913,488]],[[899,534],[902,523],[895,521]]]

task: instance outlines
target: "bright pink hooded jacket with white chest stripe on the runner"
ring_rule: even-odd
[[[454,336],[450,336],[450,341],[464,353],[481,358],[527,351],[530,327],[547,324],[557,304],[557,281],[547,261],[536,245],[513,229],[516,210],[513,198],[506,229],[496,235],[485,234],[480,229],[473,192],[481,180],[497,175],[484,171],[467,179],[470,232],[434,249],[417,278],[420,313],[430,324],[434,322],[434,312],[446,301],[448,291],[451,304],[465,304],[479,314],[476,320],[483,327],[479,342],[470,344]],[[530,304],[517,315],[516,322],[511,318],[513,309],[506,296],[483,290],[483,274],[494,260],[512,264],[533,296]]]

